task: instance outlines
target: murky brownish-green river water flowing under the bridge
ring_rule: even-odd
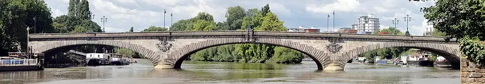
[[[0,84],[459,84],[459,70],[347,64],[344,71],[302,64],[184,61],[182,69],[153,69],[148,59],[128,66],[46,68],[0,72]]]

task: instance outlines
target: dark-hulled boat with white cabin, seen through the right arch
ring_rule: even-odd
[[[434,66],[429,60],[431,54],[425,50],[412,49],[412,53],[407,57],[407,65],[413,66]]]

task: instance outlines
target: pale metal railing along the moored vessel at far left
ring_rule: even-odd
[[[32,66],[39,65],[37,59],[0,59],[0,66]]]

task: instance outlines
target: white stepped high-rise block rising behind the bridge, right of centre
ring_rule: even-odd
[[[380,30],[379,18],[376,18],[373,14],[368,16],[361,16],[358,18],[358,23],[351,25],[352,28],[358,30],[358,32],[365,34],[372,34],[376,30]]]

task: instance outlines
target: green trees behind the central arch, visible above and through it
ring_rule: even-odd
[[[203,19],[203,16],[209,18],[211,16],[199,13],[197,17],[179,20],[172,28],[176,31],[245,30],[246,26],[251,24],[250,26],[256,31],[286,31],[283,21],[270,12],[268,5],[262,10],[265,12],[258,9],[244,11],[240,6],[228,7],[225,22],[216,24],[211,19]],[[265,44],[224,45],[197,51],[190,56],[190,60],[266,63],[272,58],[271,62],[274,63],[301,63],[304,58],[296,50],[283,47],[279,47],[278,50],[279,52],[275,52],[275,46]],[[275,53],[279,54],[276,56]]]

